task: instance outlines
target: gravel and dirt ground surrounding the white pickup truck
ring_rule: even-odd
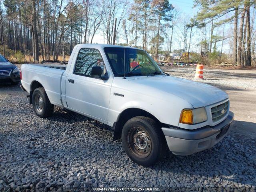
[[[194,68],[162,67],[193,79]],[[38,118],[19,86],[0,84],[0,191],[92,191],[93,187],[156,187],[161,191],[256,190],[256,72],[205,70],[230,94],[234,129],[213,148],[168,153],[155,166],[134,164],[110,127],[56,107]],[[244,98],[246,97],[246,98]],[[241,100],[245,100],[242,101]]]

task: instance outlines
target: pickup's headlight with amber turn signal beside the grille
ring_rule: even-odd
[[[184,109],[180,114],[180,123],[196,124],[206,120],[207,115],[204,107],[196,109]]]

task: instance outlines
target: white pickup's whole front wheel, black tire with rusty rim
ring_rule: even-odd
[[[126,154],[142,166],[155,164],[166,152],[162,130],[154,120],[144,116],[131,118],[124,124],[122,146]]]

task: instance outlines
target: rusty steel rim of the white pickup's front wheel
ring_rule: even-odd
[[[144,128],[133,127],[128,133],[128,145],[132,152],[140,157],[147,157],[151,150],[151,138]]]

